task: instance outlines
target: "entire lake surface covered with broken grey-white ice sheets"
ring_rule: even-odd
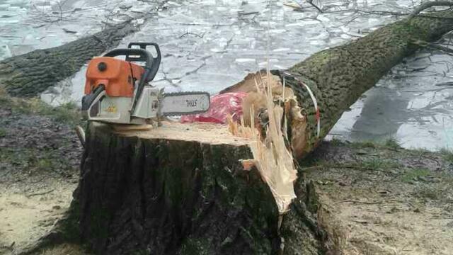
[[[322,0],[325,13],[287,1],[0,0],[0,59],[54,47],[117,23],[154,13],[122,41],[158,42],[163,59],[154,84],[166,91],[212,94],[266,67],[285,69],[309,55],[367,35],[408,13],[412,0]],[[292,1],[295,3],[296,1]],[[316,2],[316,0],[315,0]],[[319,3],[319,1],[317,1]],[[357,11],[359,10],[359,11]],[[135,21],[142,23],[142,20]],[[450,35],[440,43],[447,45]],[[453,147],[452,56],[418,52],[360,98],[331,131],[342,140],[386,140],[403,147]],[[52,105],[80,101],[84,68],[42,94]]]

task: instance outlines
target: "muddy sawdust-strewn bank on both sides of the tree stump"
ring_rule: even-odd
[[[0,94],[0,254],[18,254],[69,207],[82,147],[73,106]],[[323,142],[304,162],[318,215],[344,254],[451,254],[453,154],[389,140]],[[38,254],[86,254],[59,244]]]

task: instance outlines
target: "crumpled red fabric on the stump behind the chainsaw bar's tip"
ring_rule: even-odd
[[[206,113],[184,115],[180,118],[181,123],[207,122],[226,123],[226,115],[233,116],[233,120],[241,120],[242,100],[247,96],[243,92],[225,93],[211,96],[211,105]]]

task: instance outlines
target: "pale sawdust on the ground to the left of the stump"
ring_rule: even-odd
[[[76,183],[43,184],[0,186],[0,254],[14,254],[36,242],[69,208]]]

